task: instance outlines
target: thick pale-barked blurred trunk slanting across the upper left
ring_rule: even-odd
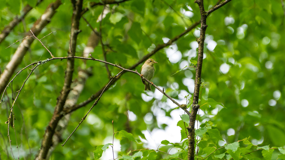
[[[37,36],[40,33],[40,31],[50,22],[50,19],[56,12],[56,9],[61,4],[62,4],[61,0],[57,0],[54,3],[51,3],[46,8],[46,11],[44,12],[44,14],[42,14],[42,16],[34,23],[33,27],[31,28],[35,36]],[[27,35],[26,37],[29,37],[31,35]],[[5,67],[5,70],[0,76],[0,93],[3,92],[9,79],[13,75],[18,65],[21,63],[24,55],[26,54],[28,48],[30,47],[33,41],[34,41],[34,38],[32,37],[24,39],[22,43],[19,45],[19,47],[17,48],[17,50],[15,51],[13,57],[11,58],[11,61],[7,64],[7,66]]]

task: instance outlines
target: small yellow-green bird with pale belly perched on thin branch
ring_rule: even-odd
[[[144,76],[144,78],[146,78],[149,81],[154,75],[154,67],[153,67],[154,63],[157,63],[157,62],[154,61],[153,59],[148,59],[144,62],[143,66],[141,68],[141,76]],[[145,91],[146,90],[151,91],[150,84],[148,82],[144,81],[143,78],[142,78],[142,81],[143,81],[143,84],[145,85],[144,90]]]

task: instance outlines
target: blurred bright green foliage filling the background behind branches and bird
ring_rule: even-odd
[[[34,0],[0,2],[6,4],[0,7],[0,30],[19,15],[25,5],[34,7],[36,4]],[[22,39],[51,2],[52,0],[44,0],[32,9],[1,43],[1,72],[20,42],[5,48]],[[90,2],[84,1],[83,7],[89,7]],[[196,130],[199,136],[198,159],[208,155],[208,160],[231,157],[277,159],[278,156],[279,159],[285,159],[285,59],[282,49],[285,46],[285,32],[281,2],[233,0],[208,16],[201,80],[203,87],[200,90],[199,102],[200,106],[204,105],[199,111],[199,129]],[[42,39],[55,57],[67,55],[70,39],[72,5],[70,1],[63,0],[62,3],[51,22],[38,35],[38,38],[42,38],[56,31]],[[217,0],[204,1],[205,9],[210,9],[216,3]],[[97,19],[101,16],[102,10],[103,6],[96,6],[83,15],[98,31],[100,22]],[[108,5],[105,10],[108,13],[102,20],[102,40],[112,49],[107,52],[107,61],[125,68],[135,64],[164,40],[174,38],[200,20],[198,5],[186,0],[130,0],[119,5]],[[78,35],[75,53],[77,56],[82,56],[92,32],[82,18],[80,29],[82,32]],[[186,102],[188,94],[188,99],[191,99],[193,94],[195,69],[189,60],[197,60],[196,37],[199,36],[199,29],[196,27],[173,45],[151,57],[158,62],[154,65],[155,75],[152,82],[163,87],[165,92],[177,99],[180,104]],[[99,44],[92,55],[103,60],[102,53]],[[34,41],[17,70],[47,58],[50,58],[50,54],[39,41]],[[74,79],[77,77],[78,67],[83,63],[80,59],[75,60]],[[141,65],[136,69],[140,70]],[[192,67],[184,68],[185,66]],[[93,67],[93,76],[87,79],[78,103],[96,93],[109,81],[104,64],[87,61],[87,67]],[[182,68],[184,69],[176,73]],[[19,95],[14,107],[14,122],[20,159],[34,159],[36,156],[41,146],[42,135],[52,117],[56,98],[63,86],[65,69],[66,60],[54,60],[40,65]],[[112,66],[109,66],[109,70],[112,76],[120,71]],[[24,70],[13,81],[14,97],[17,94],[15,91],[21,88],[29,72],[28,69]],[[177,106],[168,102],[161,93],[154,92],[153,87],[152,92],[143,92],[143,88],[139,76],[129,72],[123,74],[120,80],[103,94],[87,119],[68,140],[67,145],[57,146],[50,159],[94,159],[104,156],[109,143],[113,143],[113,128],[114,132],[121,130],[120,134],[114,134],[115,139],[120,140],[119,159],[185,159],[188,146],[185,128],[188,124],[183,120],[174,121],[177,117],[180,119],[180,115],[173,114],[181,109],[175,109]],[[209,103],[209,100],[212,103]],[[4,93],[0,106],[0,159],[13,158],[6,136],[7,124],[4,124],[9,116],[11,101],[10,86],[7,93]],[[66,140],[91,105],[90,103],[72,113],[62,136],[63,140]],[[130,114],[132,120],[129,119]],[[160,117],[165,118],[162,120]],[[181,128],[177,129],[170,124],[177,124]],[[145,140],[149,140],[145,136],[146,132],[153,133],[167,128],[178,130],[181,135],[175,136],[179,140],[181,136],[181,142],[170,143],[173,140],[168,139],[162,141],[160,146],[156,144],[156,148],[145,149],[150,143]],[[131,134],[125,134],[122,130]],[[12,127],[10,138],[14,156],[17,157]],[[239,140],[242,141],[238,142]],[[114,145],[115,147],[118,146]],[[215,151],[220,147],[223,148]],[[257,149],[260,150],[255,151]],[[169,151],[171,155],[167,154]],[[213,151],[215,152],[212,153]],[[247,154],[249,152],[252,153]],[[113,155],[107,157],[112,159]]]

